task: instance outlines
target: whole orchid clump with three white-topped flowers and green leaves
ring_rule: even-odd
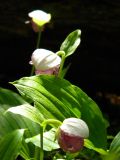
[[[81,30],[72,31],[53,52],[40,48],[51,14],[36,10],[28,16],[37,44],[28,62],[30,76],[10,82],[19,94],[0,88],[0,160],[18,156],[25,160],[119,160],[120,133],[108,147],[108,124],[100,108],[64,78],[69,69],[65,60],[78,48]]]

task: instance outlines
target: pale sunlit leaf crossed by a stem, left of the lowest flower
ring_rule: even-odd
[[[60,148],[57,141],[55,141],[56,130],[51,129],[43,133],[43,150],[52,151],[53,149]],[[26,143],[33,143],[35,146],[40,147],[40,134],[32,138],[27,138]]]

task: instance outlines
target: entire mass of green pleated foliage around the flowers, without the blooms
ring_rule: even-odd
[[[79,46],[80,35],[79,29],[71,32],[57,52],[61,56],[58,76],[39,75],[14,81],[11,84],[21,96],[0,88],[1,160],[13,160],[18,155],[26,160],[43,160],[43,150],[46,155],[55,151],[53,159],[56,160],[74,160],[76,156],[88,159],[88,150],[97,152],[99,156],[96,154],[96,157],[103,160],[120,159],[120,133],[108,151],[106,121],[98,105],[79,87],[63,79],[68,69],[63,68],[65,59]],[[75,154],[60,152],[56,140],[62,121],[70,117],[83,119],[90,133],[89,139],[85,139],[84,149]]]

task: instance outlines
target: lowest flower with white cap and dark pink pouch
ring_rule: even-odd
[[[78,118],[68,118],[59,128],[58,143],[65,152],[76,153],[84,145],[84,138],[89,136],[87,124]]]

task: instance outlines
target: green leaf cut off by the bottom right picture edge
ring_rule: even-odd
[[[113,141],[110,145],[109,154],[116,155],[115,160],[120,159],[120,132],[113,139]]]

